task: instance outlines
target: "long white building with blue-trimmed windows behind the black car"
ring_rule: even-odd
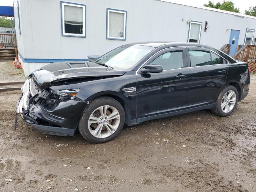
[[[56,61],[87,60],[131,42],[255,44],[256,17],[168,0],[14,0],[26,75]]]

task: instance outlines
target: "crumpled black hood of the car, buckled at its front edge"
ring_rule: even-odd
[[[50,86],[51,82],[72,78],[122,76],[125,71],[115,71],[94,62],[56,62],[39,68],[30,74],[40,89]]]

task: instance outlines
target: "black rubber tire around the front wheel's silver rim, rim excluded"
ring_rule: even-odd
[[[116,108],[116,110],[118,110],[118,112],[120,114],[120,123],[119,123],[118,128],[112,135],[110,135],[106,138],[97,138],[90,133],[89,128],[88,128],[88,120],[89,120],[92,112],[94,112],[94,110],[96,110],[100,106],[105,106],[105,105],[113,106],[114,108]],[[78,130],[79,130],[80,134],[89,142],[104,143],[104,142],[108,142],[108,141],[112,140],[113,138],[115,138],[118,135],[118,133],[121,132],[121,130],[124,126],[124,122],[125,122],[125,113],[124,113],[124,108],[122,107],[122,105],[117,100],[115,100],[111,97],[102,96],[102,97],[92,100],[90,102],[90,104],[86,107],[86,109],[84,110],[84,113],[82,115],[82,118],[80,119],[80,122],[78,124]]]

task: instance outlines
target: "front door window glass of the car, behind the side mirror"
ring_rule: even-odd
[[[166,52],[156,58],[150,65],[161,65],[163,70],[178,69],[183,67],[182,51]]]

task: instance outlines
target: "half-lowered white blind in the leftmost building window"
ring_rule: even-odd
[[[64,5],[64,22],[72,25],[83,24],[83,8]]]

